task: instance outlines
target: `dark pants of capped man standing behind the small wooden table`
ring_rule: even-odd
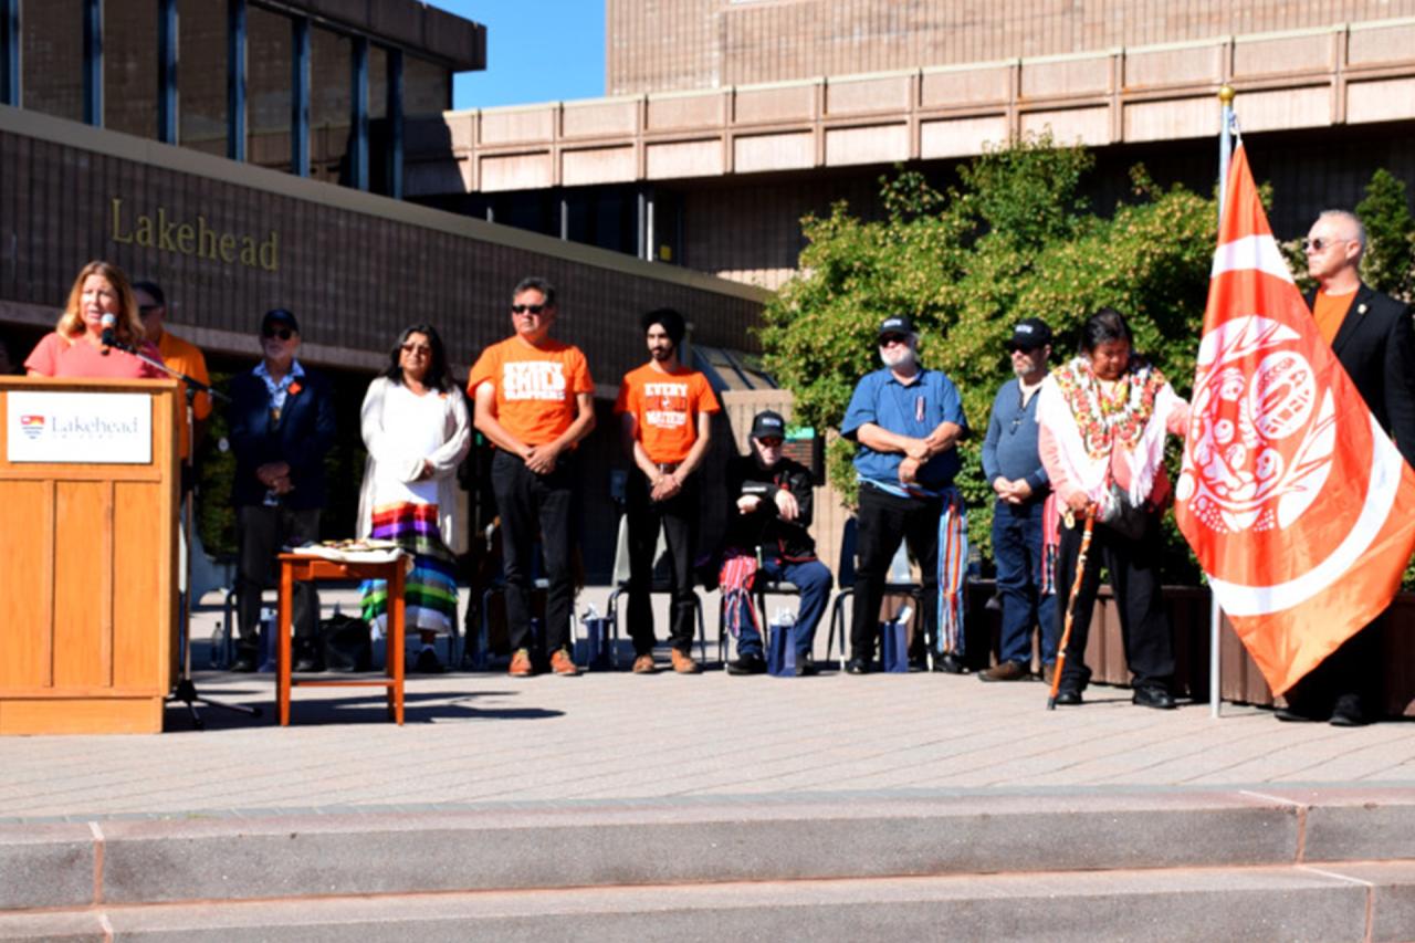
[[[236,568],[236,620],[241,647],[256,647],[260,627],[260,593],[275,583],[275,556],[282,547],[299,547],[320,539],[320,508],[243,504],[236,508],[236,537],[241,545]],[[313,644],[320,623],[320,595],[314,583],[296,583],[293,605],[294,637]]]

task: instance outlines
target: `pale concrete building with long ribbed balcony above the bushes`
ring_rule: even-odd
[[[607,0],[607,98],[410,132],[409,197],[764,286],[798,219],[877,210],[904,163],[1050,129],[1098,149],[1102,208],[1143,160],[1207,191],[1232,84],[1274,222],[1305,231],[1377,167],[1415,181],[1415,0]]]

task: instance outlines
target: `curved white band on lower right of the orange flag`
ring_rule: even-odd
[[[1395,443],[1381,430],[1375,418],[1371,423],[1371,480],[1365,490],[1365,504],[1351,531],[1341,544],[1320,564],[1296,579],[1275,586],[1244,586],[1210,576],[1208,583],[1224,612],[1230,616],[1265,616],[1283,609],[1292,609],[1317,593],[1326,590],[1370,549],[1375,535],[1385,525],[1395,493],[1401,486],[1401,469],[1405,459],[1395,450]]]

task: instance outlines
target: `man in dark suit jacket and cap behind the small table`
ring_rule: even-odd
[[[320,537],[324,507],[324,456],[334,443],[334,395],[328,381],[306,370],[296,354],[300,326],[284,309],[260,321],[256,368],[231,381],[231,447],[236,456],[232,501],[241,551],[236,617],[241,643],[236,671],[256,670],[260,593],[273,582],[282,547]],[[320,599],[314,586],[294,589],[296,671],[318,667],[314,636]]]

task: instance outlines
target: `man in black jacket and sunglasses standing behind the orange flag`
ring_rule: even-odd
[[[1317,217],[1305,244],[1317,290],[1307,307],[1367,408],[1415,466],[1415,333],[1407,304],[1361,282],[1365,227],[1351,212]],[[1286,694],[1282,721],[1370,724],[1380,714],[1381,624],[1377,616]]]

